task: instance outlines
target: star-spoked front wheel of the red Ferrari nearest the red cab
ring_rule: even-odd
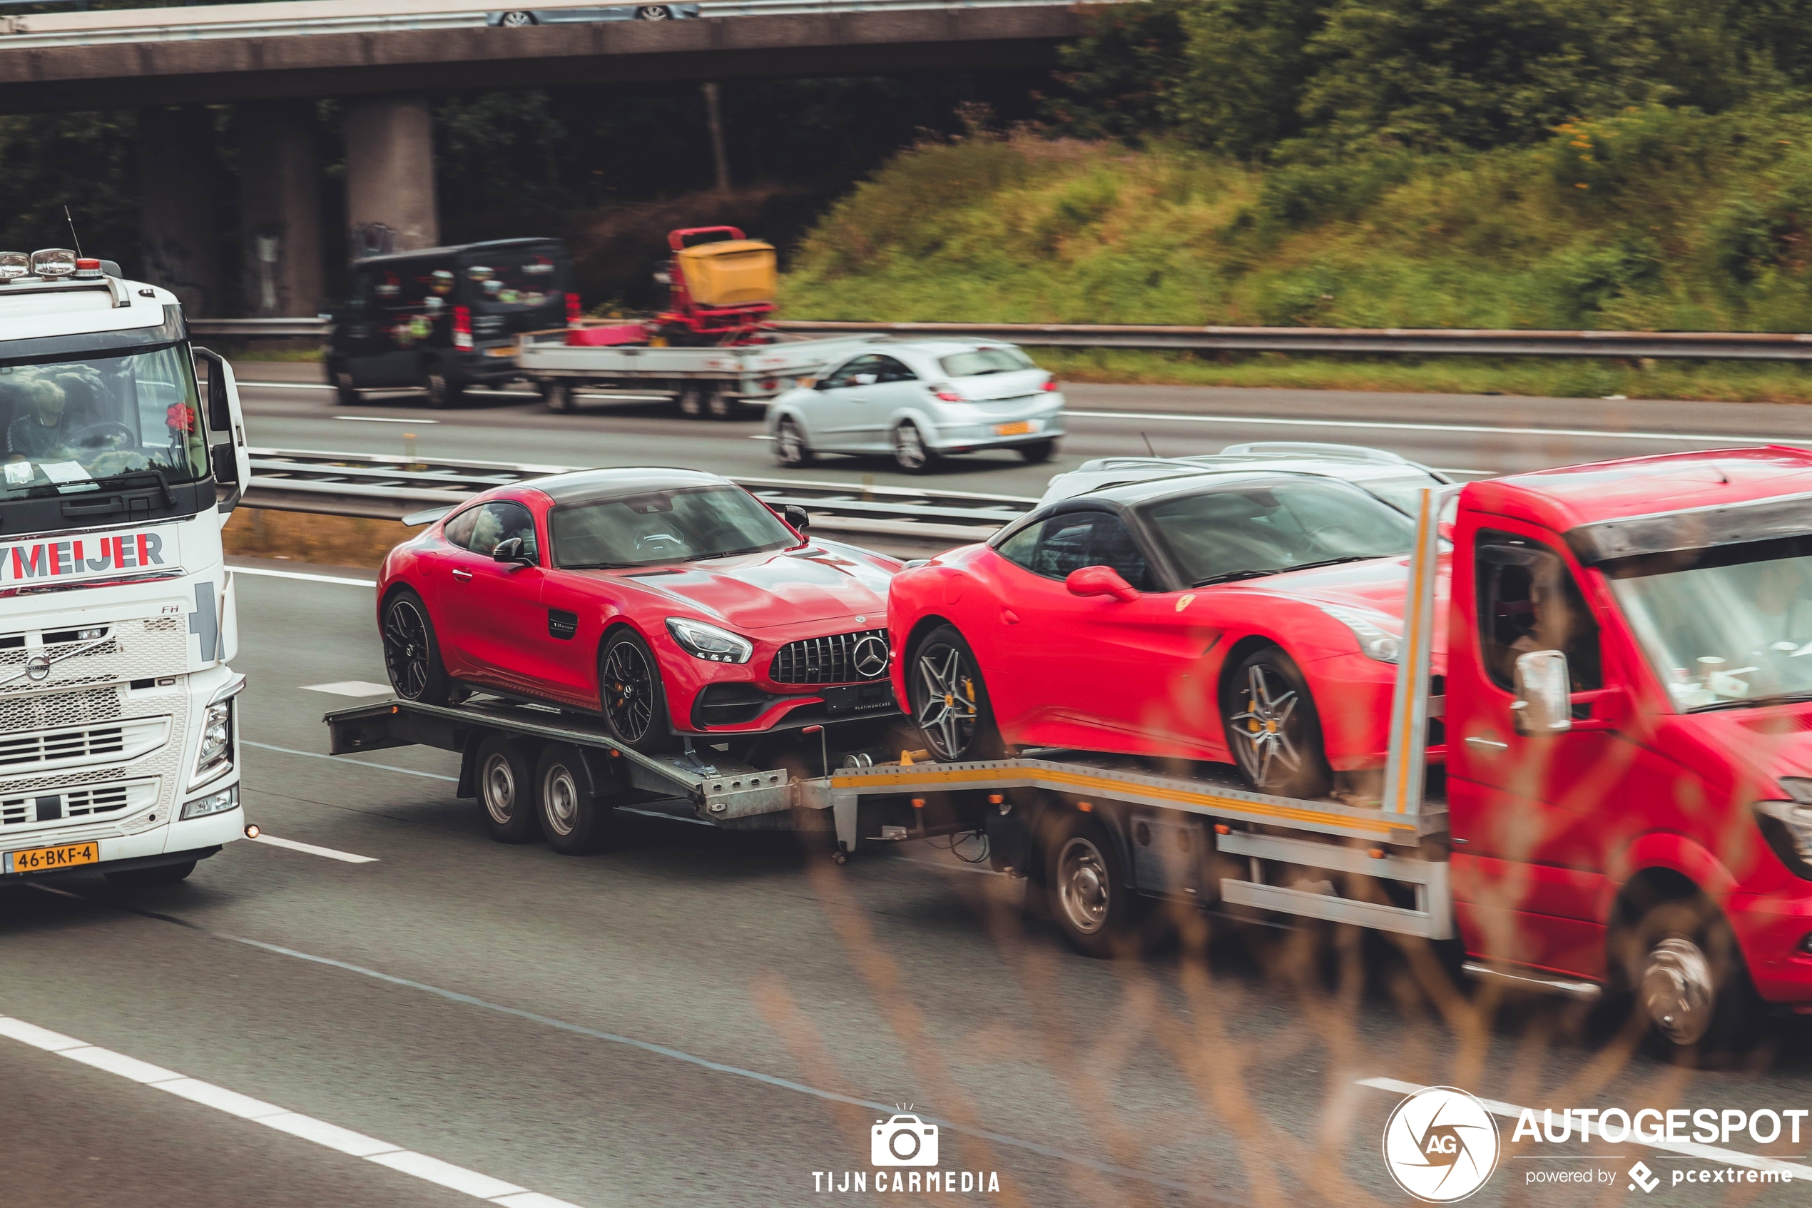
[[[1296,661],[1277,647],[1254,650],[1221,686],[1227,746],[1247,784],[1277,797],[1325,797],[1334,782],[1321,719]]]

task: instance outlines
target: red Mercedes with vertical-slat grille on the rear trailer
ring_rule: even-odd
[[[477,496],[384,560],[390,683],[602,714],[625,746],[895,712],[886,594],[902,563],[803,534],[736,484],[593,469]]]

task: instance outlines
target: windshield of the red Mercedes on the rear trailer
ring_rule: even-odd
[[[741,487],[676,487],[562,505],[549,527],[554,565],[567,569],[698,561],[799,543]]]

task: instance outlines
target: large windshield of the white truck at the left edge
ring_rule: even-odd
[[[208,473],[187,346],[0,364],[0,498],[94,491],[120,475]]]

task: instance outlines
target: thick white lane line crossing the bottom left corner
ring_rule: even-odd
[[[502,1204],[504,1208],[576,1208],[576,1204],[569,1201],[531,1192],[524,1186],[516,1186],[515,1183],[493,1179],[487,1174],[467,1170],[466,1166],[455,1166],[453,1163],[444,1163],[439,1157],[417,1154],[402,1148],[400,1145],[379,1141],[377,1137],[368,1137],[362,1132],[352,1132],[350,1128],[330,1125],[324,1119],[303,1116],[284,1107],[277,1107],[275,1103],[265,1103],[263,1099],[243,1096],[237,1090],[226,1090],[225,1087],[205,1083],[199,1078],[187,1078],[176,1070],[167,1070],[163,1067],[150,1065],[149,1061],[129,1058],[123,1052],[112,1052],[111,1049],[91,1045],[85,1040],[74,1040],[72,1036],[45,1031],[34,1023],[25,1023],[24,1020],[0,1016],[0,1036],[82,1061],[83,1065],[92,1065],[94,1069],[107,1070],[111,1074],[120,1074],[121,1078],[130,1078],[136,1083],[167,1090],[174,1096],[188,1099],[190,1103],[212,1107],[217,1112],[237,1116],[239,1119],[265,1125],[266,1128],[275,1128],[277,1132],[286,1132],[292,1137],[313,1141],[323,1148],[350,1154],[352,1157],[362,1157],[364,1161],[377,1163],[379,1166],[390,1166],[391,1170],[413,1175],[424,1183],[435,1183],[439,1186],[453,1188],[455,1192],[464,1192],[473,1199]]]

